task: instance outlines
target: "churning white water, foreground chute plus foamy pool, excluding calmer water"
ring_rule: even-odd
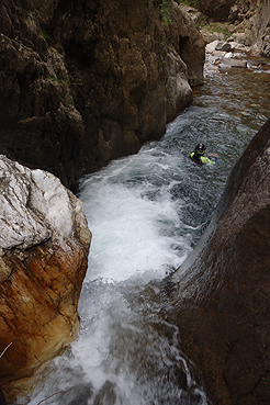
[[[83,179],[80,199],[93,234],[79,302],[81,329],[49,364],[30,405],[206,404],[178,330],[160,317],[158,284],[181,265],[192,226],[181,220],[176,188],[183,157],[149,144]],[[147,289],[150,294],[146,294]],[[169,336],[169,338],[168,338]]]

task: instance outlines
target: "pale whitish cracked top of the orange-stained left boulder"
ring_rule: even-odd
[[[68,190],[53,175],[11,162],[0,156],[0,246],[27,249],[72,233]],[[54,229],[54,233],[53,230]]]

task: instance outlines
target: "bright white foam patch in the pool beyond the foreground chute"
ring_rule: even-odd
[[[182,226],[181,202],[171,199],[171,169],[168,157],[149,148],[85,181],[80,199],[92,232],[87,281],[148,271],[164,277],[181,265],[190,246],[175,232]]]

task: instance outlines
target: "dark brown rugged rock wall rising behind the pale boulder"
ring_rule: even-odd
[[[159,138],[203,81],[171,0],[2,0],[0,153],[71,185]]]

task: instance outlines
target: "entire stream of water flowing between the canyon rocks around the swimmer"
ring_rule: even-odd
[[[205,230],[227,175],[269,117],[269,72],[205,70],[194,102],[160,142],[83,179],[93,234],[79,302],[81,330],[30,405],[204,405],[206,395],[160,315],[158,280],[177,269]],[[259,90],[260,89],[260,90]],[[198,142],[218,154],[198,167]],[[191,319],[192,320],[192,319]]]

